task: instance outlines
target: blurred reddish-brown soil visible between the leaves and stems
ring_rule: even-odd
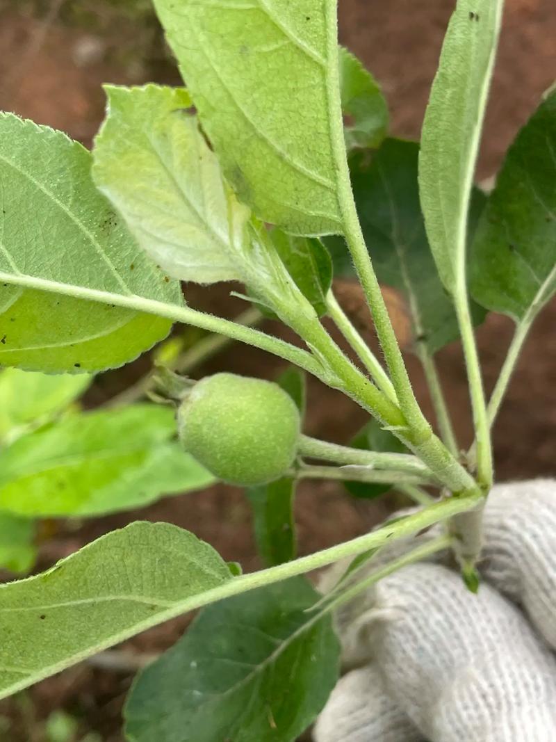
[[[453,0],[340,0],[340,39],[382,82],[391,106],[393,131],[417,138],[428,88],[437,64]],[[507,0],[500,56],[494,76],[478,177],[490,177],[517,128],[556,79],[554,0]],[[0,0],[0,108],[16,111],[67,131],[90,145],[102,120],[102,82],[179,82],[148,0]],[[234,316],[244,307],[228,297],[228,287],[186,288],[188,299],[211,311]],[[375,344],[357,288],[338,286],[340,299]],[[400,332],[400,303],[388,292]],[[497,421],[498,479],[556,475],[556,303],[537,321]],[[268,329],[279,328],[268,324]],[[512,333],[512,324],[490,316],[479,330],[486,386],[491,388]],[[440,370],[454,410],[462,444],[469,443],[469,402],[459,347],[440,353]],[[429,410],[426,388],[414,358],[408,357],[417,392]],[[261,352],[231,347],[199,374],[231,370],[271,378],[279,364]],[[105,401],[145,370],[145,360],[105,375],[87,397]],[[347,441],[365,415],[337,393],[311,381],[306,432]],[[368,530],[391,502],[348,499],[335,483],[303,485],[297,501],[302,553],[324,548]],[[70,554],[85,542],[132,519],[174,522],[210,542],[225,559],[257,567],[248,505],[239,491],[217,486],[166,499],[136,513],[54,529],[44,539],[40,566]],[[187,619],[153,629],[125,650],[159,652],[179,636]],[[0,637],[1,640],[1,637]],[[129,670],[84,663],[39,683],[15,700],[0,703],[0,740],[48,742],[43,720],[64,709],[79,728],[70,740],[122,742],[121,708]],[[2,717],[4,717],[2,719]],[[2,732],[1,729],[5,731]],[[87,735],[87,736],[85,736]],[[64,742],[64,740],[62,740]],[[163,742],[163,741],[161,741]]]

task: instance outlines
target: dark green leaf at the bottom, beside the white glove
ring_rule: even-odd
[[[205,608],[139,674],[125,709],[133,742],[293,742],[337,681],[330,617],[297,578]]]

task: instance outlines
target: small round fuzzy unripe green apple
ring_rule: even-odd
[[[299,427],[294,401],[277,384],[231,373],[203,378],[178,412],[185,450],[231,485],[279,479],[294,462]]]

